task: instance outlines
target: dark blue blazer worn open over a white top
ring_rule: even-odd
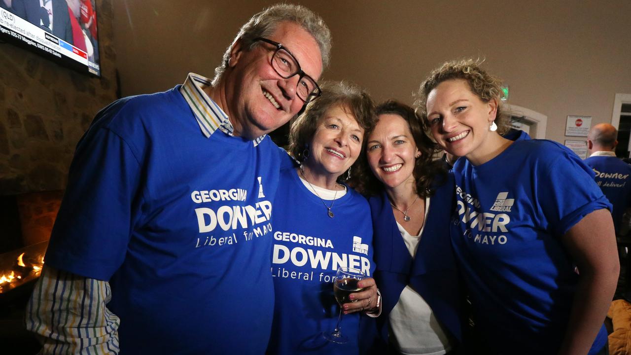
[[[369,199],[375,233],[375,279],[383,295],[382,315],[377,318],[382,339],[387,339],[389,313],[408,284],[430,304],[440,322],[461,339],[460,282],[448,232],[454,197],[450,176],[432,196],[414,260],[401,238],[386,193]]]

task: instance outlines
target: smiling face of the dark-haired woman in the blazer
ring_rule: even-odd
[[[386,188],[398,188],[403,183],[414,186],[414,167],[420,151],[410,131],[410,125],[398,114],[381,114],[367,138],[367,158],[370,170]]]

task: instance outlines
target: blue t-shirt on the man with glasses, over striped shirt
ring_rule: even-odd
[[[262,354],[277,151],[206,138],[178,87],[119,100],[78,144],[45,261],[109,280],[121,354]]]

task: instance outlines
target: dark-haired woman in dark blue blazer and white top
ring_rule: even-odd
[[[462,339],[460,282],[449,239],[454,181],[411,107],[377,107],[358,190],[369,196],[375,280],[383,297],[375,353],[452,354]],[[369,332],[371,325],[366,325]]]

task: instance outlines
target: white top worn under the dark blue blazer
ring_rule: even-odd
[[[425,198],[425,220],[429,207],[430,199]],[[399,222],[397,226],[414,258],[425,224],[418,236],[410,235]],[[390,337],[404,355],[442,355],[451,349],[449,337],[432,309],[410,285],[403,289],[399,301],[390,312]]]

